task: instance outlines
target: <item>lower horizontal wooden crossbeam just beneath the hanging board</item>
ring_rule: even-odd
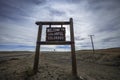
[[[71,41],[41,41],[40,45],[70,45]]]

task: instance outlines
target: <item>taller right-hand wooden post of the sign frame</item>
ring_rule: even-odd
[[[70,38],[71,38],[71,57],[72,57],[72,74],[77,77],[77,65],[76,65],[76,55],[75,55],[75,42],[74,42],[74,29],[73,29],[73,19],[70,18]]]

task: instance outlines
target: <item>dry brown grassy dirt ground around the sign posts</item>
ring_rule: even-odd
[[[34,52],[0,52],[0,80],[120,80],[120,49],[76,51],[76,58],[78,78],[70,52],[42,52],[34,75]]]

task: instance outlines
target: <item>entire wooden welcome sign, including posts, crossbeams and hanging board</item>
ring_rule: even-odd
[[[39,21],[39,22],[36,22],[36,24],[39,26],[39,29],[38,29],[35,58],[34,58],[34,65],[33,65],[34,74],[38,72],[40,45],[71,45],[72,74],[73,76],[78,78],[76,55],[75,55],[73,19],[70,18],[69,21],[59,21],[59,22],[58,21],[54,21],[54,22]],[[46,28],[46,41],[41,41],[43,25],[49,25],[49,27]],[[51,25],[61,25],[61,27],[51,27]],[[63,25],[69,25],[70,27],[70,41],[65,41],[66,40],[65,28],[63,27]]]

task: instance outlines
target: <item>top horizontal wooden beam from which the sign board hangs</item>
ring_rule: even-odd
[[[67,21],[65,21],[65,22],[41,22],[41,21],[38,21],[38,22],[36,22],[36,24],[37,25],[40,25],[40,24],[42,24],[42,25],[69,25],[70,24],[70,22],[67,22]]]

